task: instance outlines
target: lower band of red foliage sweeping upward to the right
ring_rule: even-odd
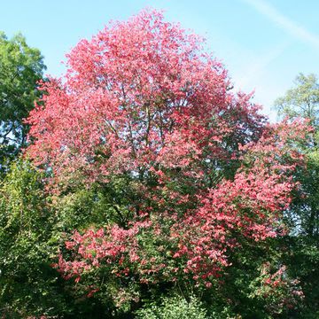
[[[88,230],[83,236],[75,232],[66,249],[77,253],[80,261],[66,262],[60,256],[59,271],[66,278],[80,278],[85,270],[109,264],[116,276],[133,271],[141,283],[191,276],[198,284],[209,285],[210,277],[220,276],[222,269],[230,266],[227,255],[240,247],[243,239],[259,242],[284,234],[281,212],[289,206],[295,186],[289,172],[302,164],[302,158],[292,148],[278,147],[287,145],[288,137],[297,138],[283,133],[283,128],[286,126],[278,125],[271,129],[277,134],[250,144],[234,180],[201,190],[197,205],[183,216],[151,208],[151,215],[136,216],[128,230],[113,225],[106,231]],[[302,137],[306,130],[301,128],[300,123],[292,123],[290,132],[300,132]],[[283,156],[290,159],[285,160],[287,164],[281,163]],[[171,203],[167,209],[173,206]],[[144,222],[138,222],[142,216]],[[166,245],[166,256],[152,258],[145,241],[146,245],[152,241]]]

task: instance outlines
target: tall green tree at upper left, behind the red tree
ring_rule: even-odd
[[[26,145],[27,125],[23,119],[40,96],[37,82],[43,79],[43,56],[27,46],[18,34],[8,40],[0,33],[0,167]]]

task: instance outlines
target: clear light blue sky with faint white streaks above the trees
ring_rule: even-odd
[[[254,89],[254,101],[272,120],[273,101],[298,73],[319,75],[317,0],[0,0],[0,30],[9,37],[20,31],[42,51],[47,74],[59,76],[60,62],[80,39],[146,6],[205,36],[235,89]]]

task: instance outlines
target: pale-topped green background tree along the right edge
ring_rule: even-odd
[[[306,165],[294,176],[300,189],[286,214],[292,233],[285,239],[290,252],[287,262],[295,276],[300,277],[308,311],[316,317],[315,310],[319,307],[319,83],[315,74],[299,74],[294,87],[276,99],[275,106],[280,116],[306,119],[312,127],[310,140],[299,144],[306,154]]]

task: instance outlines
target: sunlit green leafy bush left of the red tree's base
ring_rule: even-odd
[[[0,315],[67,317],[76,312],[89,317],[98,302],[74,298],[51,263],[63,234],[71,231],[67,227],[76,224],[75,207],[86,202],[82,208],[89,210],[90,194],[80,192],[59,214],[43,177],[27,160],[18,159],[0,184]]]

